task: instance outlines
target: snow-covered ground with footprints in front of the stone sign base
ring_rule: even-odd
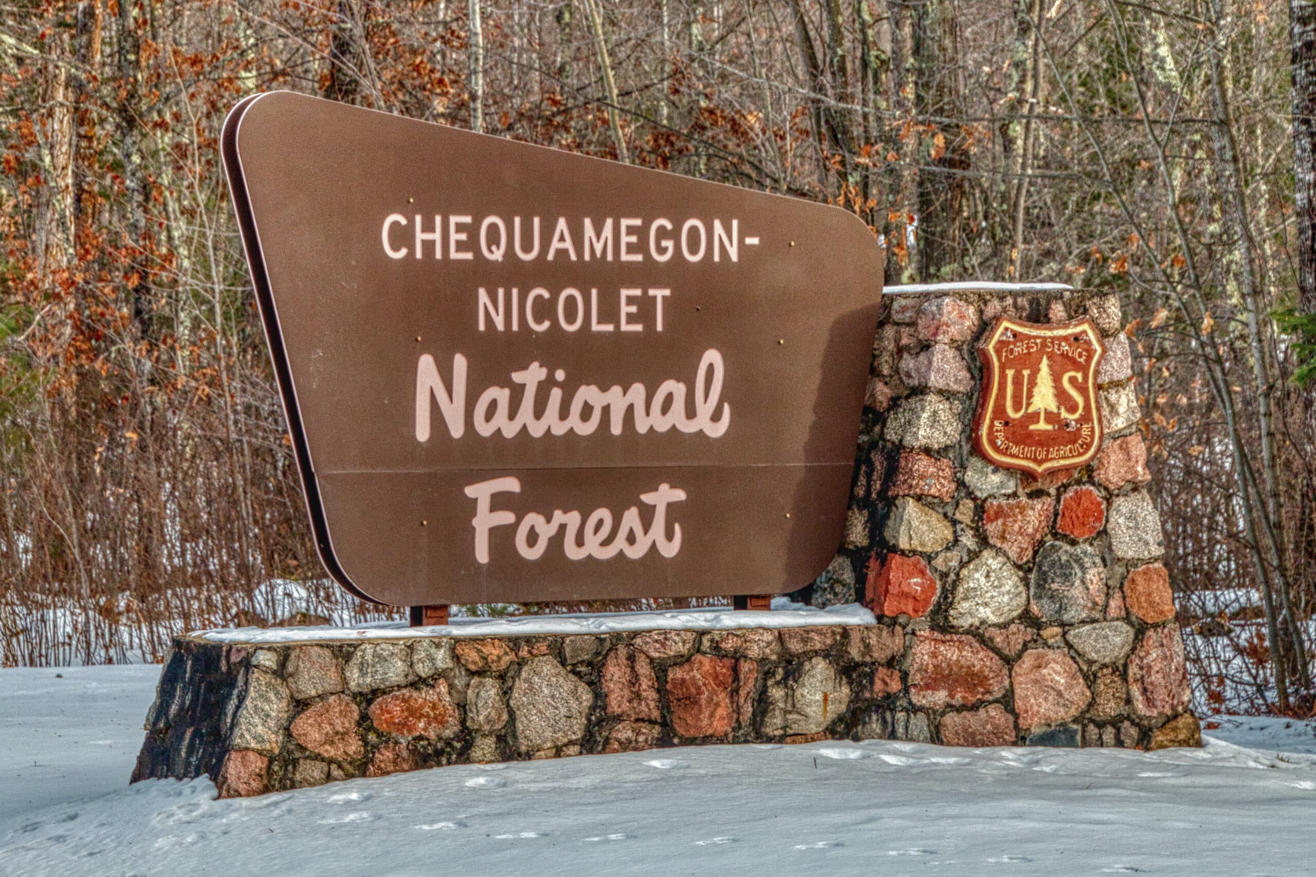
[[[1217,719],[1200,751],[703,747],[215,801],[205,780],[126,786],[157,673],[0,671],[0,874],[1241,877],[1316,861],[1316,736],[1299,722]]]

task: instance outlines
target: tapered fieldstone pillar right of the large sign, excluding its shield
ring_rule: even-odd
[[[1096,323],[1092,464],[1034,480],[974,454],[975,344],[1001,313]],[[812,601],[908,631],[904,689],[937,740],[1198,744],[1140,418],[1113,295],[890,297],[845,542]]]

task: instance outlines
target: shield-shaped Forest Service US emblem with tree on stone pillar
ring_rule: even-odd
[[[1096,367],[1105,347],[1091,320],[1037,325],[999,317],[978,346],[983,391],[974,448],[1041,477],[1083,465],[1101,446]]]

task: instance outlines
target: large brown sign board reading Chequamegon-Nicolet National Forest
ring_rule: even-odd
[[[882,292],[857,217],[287,92],[222,149],[345,588],[753,594],[826,567]]]

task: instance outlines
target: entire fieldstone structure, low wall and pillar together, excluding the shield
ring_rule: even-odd
[[[1105,440],[1041,480],[974,455],[996,314],[1090,316]],[[876,626],[232,646],[182,636],[133,780],[222,797],[471,761],[830,738],[1200,746],[1111,295],[890,297],[816,605]]]

